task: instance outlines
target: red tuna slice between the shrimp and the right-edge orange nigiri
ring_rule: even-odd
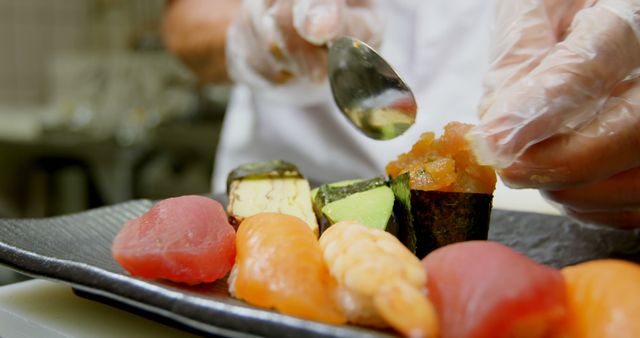
[[[442,338],[545,337],[565,315],[562,274],[502,244],[455,243],[422,263]]]

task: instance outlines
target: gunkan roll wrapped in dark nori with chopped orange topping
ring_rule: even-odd
[[[471,152],[464,135],[472,127],[452,122],[440,138],[424,133],[386,167],[398,237],[420,258],[450,243],[487,239],[496,174]]]

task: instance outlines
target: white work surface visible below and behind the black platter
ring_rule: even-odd
[[[499,184],[494,207],[558,214],[535,190]],[[194,337],[193,335],[78,297],[45,280],[0,287],[0,337]]]

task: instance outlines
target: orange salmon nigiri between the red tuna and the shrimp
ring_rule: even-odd
[[[339,324],[346,321],[333,302],[335,281],[322,260],[313,230],[300,218],[258,213],[238,227],[236,266],[229,292],[249,304]]]

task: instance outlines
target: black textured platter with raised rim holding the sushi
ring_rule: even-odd
[[[0,220],[0,263],[69,285],[84,297],[208,335],[389,336],[258,309],[231,298],[223,281],[187,287],[131,277],[111,257],[111,242],[123,222],[152,205],[135,200],[62,217]],[[638,233],[586,227],[560,216],[493,210],[489,238],[555,267],[604,257],[640,262]]]

